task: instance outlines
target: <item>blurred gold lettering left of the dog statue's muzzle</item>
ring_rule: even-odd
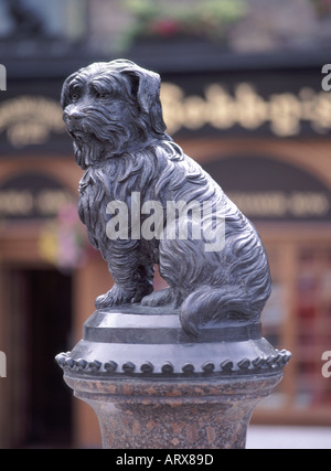
[[[42,144],[51,132],[65,132],[57,101],[40,96],[21,96],[0,105],[0,132],[7,131],[17,148]]]

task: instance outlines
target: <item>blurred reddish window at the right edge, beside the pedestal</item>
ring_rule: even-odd
[[[301,249],[297,281],[297,406],[331,404],[331,384],[321,375],[321,355],[331,345],[331,249]]]

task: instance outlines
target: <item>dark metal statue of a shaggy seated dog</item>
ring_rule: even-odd
[[[97,309],[128,302],[171,304],[193,335],[205,325],[256,322],[270,293],[264,246],[250,222],[203,169],[166,133],[160,77],[118,60],[95,63],[64,83],[62,106],[75,158],[86,170],[79,216],[108,263],[114,287]],[[110,239],[111,201],[212,202],[225,215],[225,246],[206,251],[204,239]],[[131,215],[129,214],[129,221]],[[142,220],[143,221],[143,220]],[[164,210],[163,231],[167,228]],[[169,288],[152,292],[154,265]]]

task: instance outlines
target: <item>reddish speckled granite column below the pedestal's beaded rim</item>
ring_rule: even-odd
[[[245,448],[256,404],[281,374],[242,378],[64,379],[95,410],[104,448]]]

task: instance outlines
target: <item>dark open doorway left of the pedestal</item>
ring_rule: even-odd
[[[72,276],[21,267],[6,275],[10,446],[67,447],[72,394],[54,356],[71,332]]]

